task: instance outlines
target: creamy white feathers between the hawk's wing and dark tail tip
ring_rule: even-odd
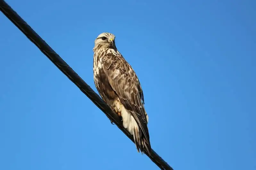
[[[133,116],[126,110],[126,108],[121,104],[121,102],[115,101],[115,107],[121,113],[123,119],[123,126],[128,132],[133,135],[135,129],[139,129],[139,126]]]

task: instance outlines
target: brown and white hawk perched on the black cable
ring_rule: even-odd
[[[93,48],[94,83],[102,99],[133,135],[137,151],[151,154],[143,91],[131,65],[117,50],[115,35],[101,33]]]

